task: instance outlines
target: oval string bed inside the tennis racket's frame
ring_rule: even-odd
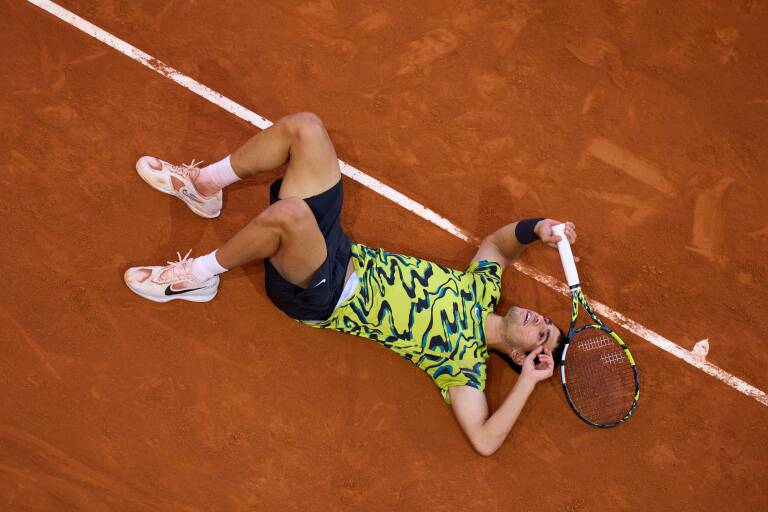
[[[635,396],[634,372],[616,341],[603,331],[595,331],[586,329],[571,340],[566,386],[582,416],[608,425],[629,412]]]

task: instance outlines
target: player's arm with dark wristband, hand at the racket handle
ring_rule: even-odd
[[[501,265],[501,268],[506,268],[528,243],[536,240],[536,237],[550,247],[557,248],[560,237],[552,232],[552,227],[562,222],[554,219],[532,222],[533,220],[526,219],[507,224],[485,237],[472,262],[495,261]],[[565,236],[571,243],[576,242],[576,227],[572,222],[566,222]]]

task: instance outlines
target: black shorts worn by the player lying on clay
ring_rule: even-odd
[[[283,179],[269,187],[269,204],[278,201]],[[290,283],[277,269],[264,260],[264,281],[267,295],[275,305],[291,318],[297,320],[326,320],[344,289],[352,240],[341,229],[341,206],[344,202],[344,188],[341,180],[322,194],[305,199],[323,233],[328,255],[317,269],[308,288]]]

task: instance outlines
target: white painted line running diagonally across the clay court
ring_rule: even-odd
[[[50,2],[48,0],[27,0],[27,1],[31,4],[34,4],[40,7],[45,11],[48,11],[49,13],[53,14],[57,18],[61,19],[62,21],[65,21],[66,23],[69,23],[70,25],[85,32],[86,34],[98,39],[102,43],[108,46],[111,46],[115,50],[143,64],[149,69],[163,75],[166,78],[170,78],[171,80],[181,85],[182,87],[189,89],[190,91],[205,98],[211,103],[218,105],[219,107],[223,108],[227,112],[231,112],[232,114],[236,115],[240,119],[244,121],[248,121],[254,126],[261,128],[262,130],[272,126],[271,121],[261,117],[260,115],[243,107],[242,105],[235,103],[231,99],[225,96],[222,96],[218,92],[210,89],[209,87],[206,87],[205,85],[201,84],[197,80],[194,80],[188,77],[187,75],[173,69],[172,67],[155,59],[151,55],[144,53],[143,51],[139,50],[135,46],[132,46],[126,43],[125,41],[123,41],[122,39],[119,39],[113,36],[109,32],[106,32],[100,29],[96,25],[84,20],[80,16],[64,9],[63,7],[53,2]],[[451,223],[448,219],[438,215],[437,213],[430,210],[429,208],[426,208],[425,206],[417,203],[416,201],[398,192],[397,190],[383,184],[376,178],[368,176],[367,174],[360,171],[359,169],[356,169],[355,167],[341,160],[339,160],[339,163],[341,165],[341,172],[343,172],[345,175],[349,176],[353,180],[370,188],[374,192],[381,194],[382,196],[386,197],[391,201],[394,201],[395,203],[402,206],[406,210],[412,211],[419,217],[425,220],[428,220],[429,222],[439,226],[445,231],[451,233],[452,235],[460,238],[461,240],[464,240],[465,242],[474,242],[474,243],[478,242],[477,237],[459,228],[455,224]],[[529,277],[532,277],[533,279],[544,284],[545,286],[548,286],[549,288],[557,292],[560,292],[563,295],[570,296],[568,287],[565,286],[565,284],[563,284],[562,282],[555,279],[554,277],[544,274],[536,270],[535,268],[531,267],[530,265],[526,265],[524,263],[515,262],[514,267],[520,272],[522,272],[523,274]],[[610,320],[622,326],[626,330],[634,333],[640,338],[645,339],[646,341],[659,347],[660,349],[666,352],[669,352],[675,357],[682,359],[686,363],[702,370],[703,372],[715,377],[716,379],[721,380],[722,382],[726,383],[727,385],[731,386],[737,391],[744,393],[749,397],[754,398],[761,404],[768,406],[768,395],[766,395],[764,391],[761,391],[756,387],[751,386],[750,384],[744,382],[738,377],[735,377],[734,375],[731,375],[730,373],[726,372],[722,368],[719,368],[711,363],[708,363],[707,361],[704,360],[702,356],[694,354],[693,352],[680,347],[679,345],[666,339],[660,334],[655,333],[652,330],[635,322],[634,320],[631,320],[625,317],[618,311],[614,311],[613,309],[609,308],[605,304],[602,304],[599,302],[592,302],[592,301],[590,301],[590,304],[592,304],[595,311],[605,316],[606,318],[609,318]]]

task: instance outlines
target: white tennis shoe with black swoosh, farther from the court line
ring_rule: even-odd
[[[192,252],[190,250],[190,252]],[[134,293],[155,302],[168,302],[176,299],[193,302],[208,302],[216,296],[219,289],[219,276],[207,281],[198,281],[192,275],[192,262],[189,252],[179,261],[168,262],[166,266],[131,267],[125,271],[125,284]]]

